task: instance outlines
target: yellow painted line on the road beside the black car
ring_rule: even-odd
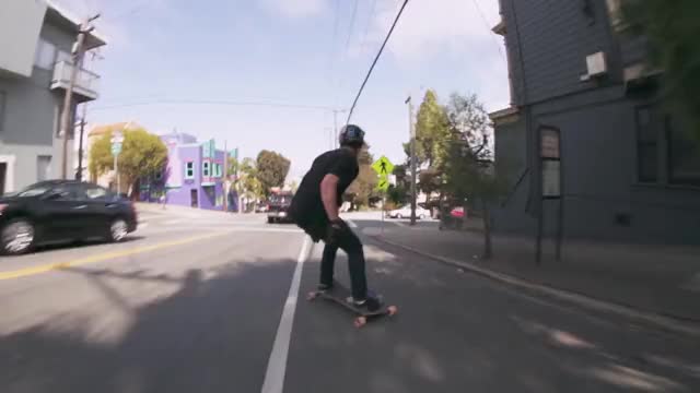
[[[115,259],[115,258],[129,257],[129,255],[135,255],[135,254],[149,252],[149,251],[153,251],[153,250],[160,250],[160,249],[164,249],[164,248],[168,248],[168,247],[187,245],[187,243],[190,243],[190,242],[194,242],[194,241],[205,240],[205,239],[213,238],[213,237],[217,237],[217,236],[222,236],[224,234],[226,234],[226,231],[208,234],[208,235],[202,235],[202,236],[196,236],[196,237],[190,237],[190,238],[179,239],[179,240],[173,240],[173,241],[165,241],[165,242],[160,242],[160,243],[151,245],[151,246],[137,247],[137,248],[129,249],[129,250],[106,252],[106,253],[90,255],[90,257],[85,257],[85,258],[80,258],[80,259],[77,259],[77,260],[68,261],[68,262],[50,263],[50,264],[45,264],[45,265],[39,265],[39,266],[20,269],[20,270],[10,271],[10,272],[0,272],[0,281],[20,278],[20,277],[31,276],[31,275],[46,273],[46,272],[50,272],[50,271],[67,269],[67,267],[71,267],[71,266],[79,266],[79,265],[83,265],[83,264],[88,264],[88,263],[102,262],[102,261],[106,261],[106,260],[110,260],[110,259]]]

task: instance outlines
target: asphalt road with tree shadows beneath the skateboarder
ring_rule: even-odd
[[[141,218],[120,245],[0,260],[1,392],[700,391],[689,337],[370,239],[370,286],[399,313],[357,330],[343,308],[304,300],[323,245],[293,226]],[[381,226],[350,218],[360,234]],[[337,277],[348,282],[343,255]]]

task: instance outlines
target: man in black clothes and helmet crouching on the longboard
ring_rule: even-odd
[[[364,131],[348,124],[340,131],[339,141],[340,148],[314,159],[292,200],[289,214],[314,242],[323,239],[326,243],[318,289],[332,288],[334,264],[340,248],[348,254],[351,301],[357,307],[374,311],[382,305],[378,297],[368,293],[362,242],[338,215],[342,194],[360,171],[358,154],[364,145]]]

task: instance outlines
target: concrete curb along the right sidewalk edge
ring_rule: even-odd
[[[551,296],[558,299],[562,299],[565,301],[570,301],[570,302],[574,302],[579,306],[585,307],[587,309],[592,309],[595,311],[606,311],[606,312],[610,312],[610,313],[615,313],[628,319],[632,319],[632,320],[637,320],[639,322],[643,322],[648,325],[652,325],[656,329],[666,331],[666,332],[670,332],[670,333],[680,333],[680,334],[685,334],[685,335],[690,335],[690,336],[696,336],[696,337],[700,337],[700,325],[699,324],[695,324],[695,323],[688,323],[688,322],[684,322],[684,321],[679,321],[677,319],[674,318],[669,318],[669,317],[665,317],[665,315],[661,315],[654,312],[645,312],[645,311],[641,311],[628,306],[621,306],[621,305],[617,305],[617,303],[612,303],[609,301],[604,301],[604,300],[599,300],[599,299],[595,299],[595,298],[591,298],[588,296],[584,296],[581,294],[576,294],[576,293],[572,293],[569,290],[563,290],[563,289],[558,289],[558,288],[553,288],[550,286],[546,286],[546,285],[541,285],[541,284],[535,284],[533,282],[528,282],[525,281],[523,278],[517,278],[515,276],[509,275],[509,274],[504,274],[504,273],[497,273],[492,270],[489,269],[483,269],[480,266],[477,266],[472,263],[468,263],[468,262],[463,262],[463,261],[457,261],[454,260],[452,258],[445,258],[445,257],[439,257],[439,255],[434,255],[431,253],[428,253],[425,251],[421,251],[418,250],[413,247],[410,246],[405,246],[392,240],[386,240],[383,237],[380,236],[371,236],[373,239],[389,245],[389,246],[394,246],[394,247],[398,247],[401,248],[404,250],[417,253],[419,255],[422,257],[427,257],[430,258],[432,260],[452,265],[452,266],[457,266],[457,267],[462,267],[465,270],[468,270],[472,273],[477,273],[481,276],[485,276],[487,278],[493,279],[493,281],[498,281],[501,283],[505,283],[505,284],[510,284],[512,286],[515,287],[521,287],[521,288],[526,288],[539,294],[544,294],[547,296]]]

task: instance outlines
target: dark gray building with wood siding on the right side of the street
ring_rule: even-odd
[[[534,235],[541,212],[545,236],[700,243],[700,148],[619,4],[500,0],[512,104],[491,119],[511,188],[497,230]]]

